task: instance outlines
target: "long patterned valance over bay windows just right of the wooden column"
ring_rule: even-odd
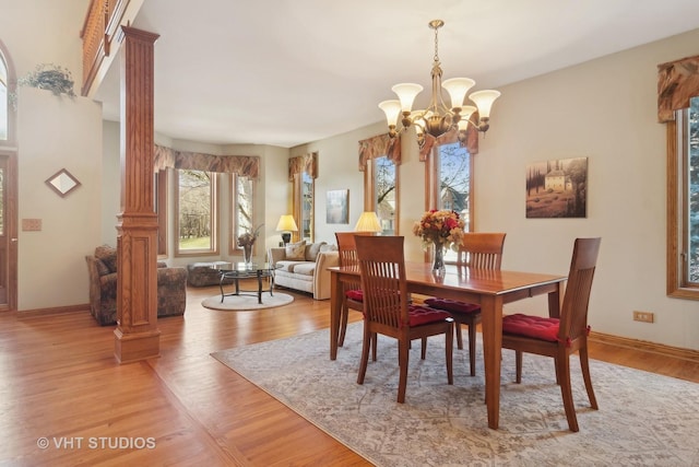
[[[153,160],[156,172],[169,167],[232,173],[252,179],[260,176],[260,157],[257,155],[213,155],[176,151],[155,144]]]

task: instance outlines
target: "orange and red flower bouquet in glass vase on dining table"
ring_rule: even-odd
[[[413,233],[423,240],[423,247],[427,249],[435,245],[435,264],[433,270],[442,271],[445,268],[443,250],[451,247],[457,249],[463,238],[465,222],[457,211],[430,209],[413,225]]]

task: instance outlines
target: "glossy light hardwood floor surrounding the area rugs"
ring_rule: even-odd
[[[185,316],[158,320],[161,358],[125,365],[86,311],[1,313],[0,465],[369,465],[209,355],[329,327],[329,301],[285,292],[284,307],[215,312],[200,303],[217,288],[189,289]],[[699,382],[696,361],[599,342],[591,357]]]

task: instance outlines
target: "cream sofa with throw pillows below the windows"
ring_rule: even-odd
[[[330,299],[329,267],[340,264],[337,247],[325,242],[289,243],[268,250],[274,270],[274,285],[312,294],[315,300]]]

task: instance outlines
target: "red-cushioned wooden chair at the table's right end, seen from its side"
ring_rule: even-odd
[[[580,366],[590,405],[597,409],[588,361],[588,304],[600,243],[601,238],[576,240],[560,317],[514,314],[502,318],[502,348],[516,352],[517,383],[522,382],[522,352],[552,357],[556,365],[556,382],[560,385],[568,428],[573,432],[579,428],[570,386],[569,358],[576,351],[580,354]]]

